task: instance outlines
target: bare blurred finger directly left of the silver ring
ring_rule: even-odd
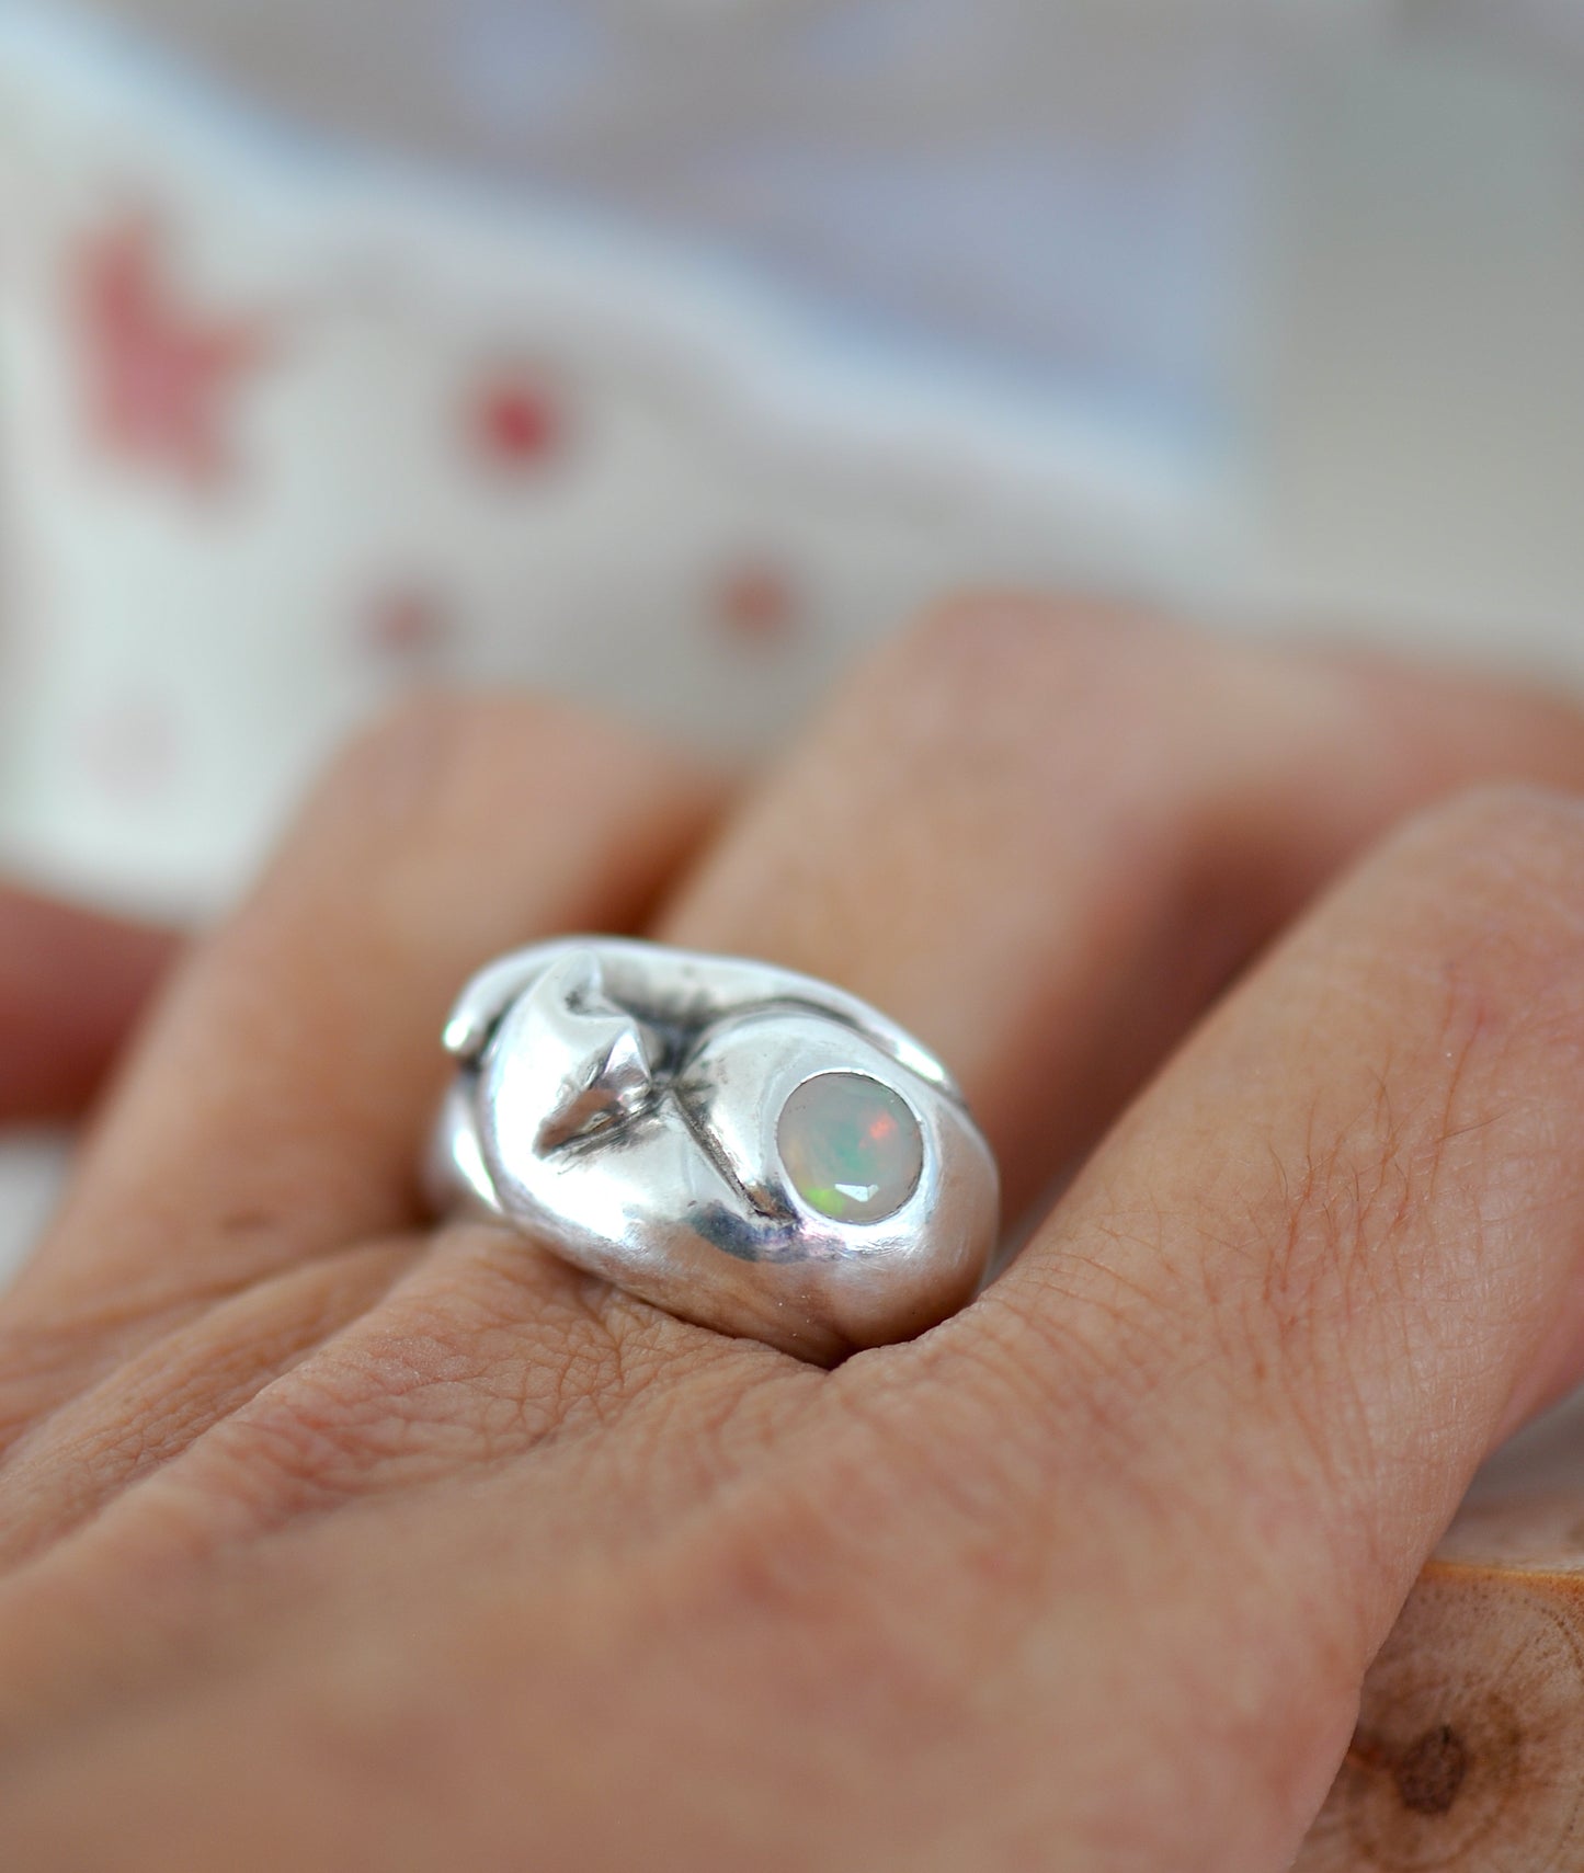
[[[189,963],[11,1311],[137,1339],[421,1216],[438,1034],[496,951],[638,918],[713,789],[522,701],[410,706]]]

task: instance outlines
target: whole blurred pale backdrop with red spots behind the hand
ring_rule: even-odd
[[[1584,684],[1580,333],[1577,0],[0,0],[0,869],[210,912],[434,676],[751,759],[961,586]]]

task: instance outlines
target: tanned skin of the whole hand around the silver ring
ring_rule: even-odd
[[[1584,1367],[1571,790],[1541,697],[1000,601],[740,802],[380,729],[0,1311],[0,1864],[1277,1873]],[[455,989],[594,927],[914,1028],[1011,1270],[824,1373],[427,1227]]]

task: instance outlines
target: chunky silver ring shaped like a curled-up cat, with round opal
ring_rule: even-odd
[[[446,1026],[429,1186],[723,1334],[835,1364],[972,1300],[996,1163],[951,1075],[813,976],[577,936]]]

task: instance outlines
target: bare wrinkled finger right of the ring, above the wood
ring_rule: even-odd
[[[1049,1656],[1063,1605],[1161,1615],[1123,1703],[1140,1749],[1174,1738],[1185,1837],[1236,1809],[1286,1864],[1475,1465],[1578,1375],[1580,1109],[1584,805],[1442,809],[1217,1011],[1000,1283],[889,1358],[906,1435],[955,1450],[985,1540],[1037,1573]],[[1236,1738],[1159,1695],[1228,1671]]]

